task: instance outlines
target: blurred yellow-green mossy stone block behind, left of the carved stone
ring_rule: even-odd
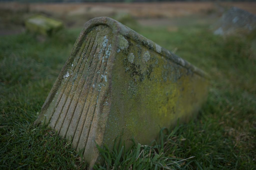
[[[63,28],[63,23],[52,18],[37,15],[25,22],[26,29],[43,35],[51,35]]]

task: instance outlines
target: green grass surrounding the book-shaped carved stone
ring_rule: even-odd
[[[131,148],[116,143],[113,152],[100,149],[105,163],[95,169],[168,164],[172,169],[256,169],[256,57],[251,40],[215,36],[202,26],[177,32],[134,29],[208,72],[209,96],[195,120],[164,129],[159,143],[134,143]],[[1,37],[0,169],[86,167],[54,131],[32,126],[79,32],[64,30],[41,42],[27,33]]]

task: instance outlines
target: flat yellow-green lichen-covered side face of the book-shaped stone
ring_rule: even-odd
[[[148,139],[154,139],[160,127],[170,127],[178,118],[185,120],[196,112],[201,104],[198,83],[204,80],[156,51],[127,40],[129,48],[116,56],[112,72],[115,99],[111,114],[115,115],[116,110],[120,114],[115,121],[114,116],[109,119],[109,130],[115,129],[115,135],[124,130],[127,139],[134,136],[149,143]],[[119,124],[125,128],[119,129]]]

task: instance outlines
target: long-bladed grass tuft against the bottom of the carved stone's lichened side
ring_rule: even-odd
[[[165,128],[164,128],[165,129]],[[159,141],[152,142],[152,145],[141,145],[131,139],[131,147],[125,149],[125,143],[122,145],[122,136],[117,145],[117,140],[114,142],[114,149],[110,150],[107,146],[101,148],[97,145],[97,148],[104,159],[104,164],[94,165],[94,169],[180,169],[185,161],[195,156],[191,156],[187,159],[176,158],[175,156],[169,157],[169,148],[166,148],[164,141],[172,138],[174,133],[170,135],[164,135],[163,130],[160,131]],[[174,129],[176,130],[177,127]]]

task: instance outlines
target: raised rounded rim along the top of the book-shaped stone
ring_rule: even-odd
[[[164,47],[147,39],[143,35],[137,33],[136,31],[132,30],[131,28],[123,25],[122,23],[120,23],[112,18],[109,18],[109,17],[93,18],[84,24],[84,28],[81,32],[83,32],[85,34],[88,31],[90,31],[91,29],[93,29],[93,27],[98,26],[98,25],[108,25],[112,29],[114,34],[119,33],[125,37],[129,37],[132,40],[147,46],[149,49],[153,49],[157,53],[165,56],[167,59],[170,59],[173,62],[175,62],[187,69],[190,69],[191,71],[198,74],[199,76],[205,77],[207,79],[210,78],[210,76],[203,70],[195,67],[193,64],[189,63],[188,61],[178,57],[177,55],[173,54],[172,52],[165,49]]]

